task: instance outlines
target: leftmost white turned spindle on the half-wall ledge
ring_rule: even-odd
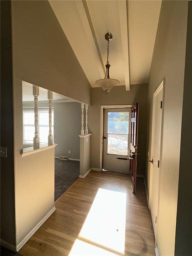
[[[38,96],[39,96],[39,87],[36,85],[33,85],[33,96],[34,96],[34,115],[35,115],[35,137],[33,138],[33,148],[37,149],[39,148],[39,132],[38,132],[38,126],[39,126],[39,114],[38,114]]]

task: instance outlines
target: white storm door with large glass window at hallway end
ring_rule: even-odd
[[[130,108],[104,109],[103,170],[129,173]]]

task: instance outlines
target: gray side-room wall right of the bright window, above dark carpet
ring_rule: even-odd
[[[55,156],[80,159],[81,104],[53,103]],[[68,154],[71,150],[71,154]]]

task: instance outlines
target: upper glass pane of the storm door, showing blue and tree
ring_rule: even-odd
[[[128,134],[129,112],[108,113],[108,133]]]

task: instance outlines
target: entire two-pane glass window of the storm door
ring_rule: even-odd
[[[108,112],[107,154],[128,155],[129,112]]]

